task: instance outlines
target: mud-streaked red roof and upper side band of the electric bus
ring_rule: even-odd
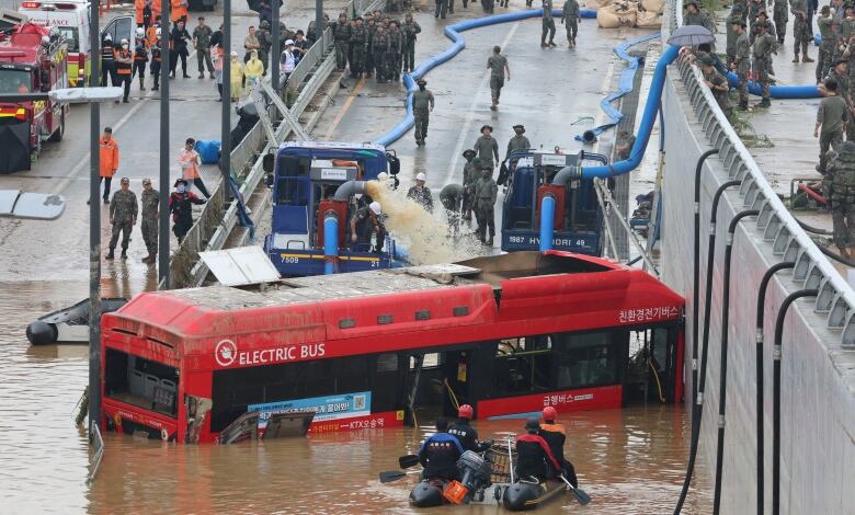
[[[212,286],[145,293],[105,314],[102,328],[112,346],[141,346],[174,364],[207,355],[194,366],[216,368],[210,357],[224,341],[240,350],[328,342],[330,356],[420,341],[430,346],[426,342],[675,322],[683,304],[645,271],[529,251],[286,279],[258,291]]]

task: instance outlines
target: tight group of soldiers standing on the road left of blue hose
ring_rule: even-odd
[[[380,11],[353,20],[342,13],[332,31],[337,69],[350,68],[352,78],[376,73],[378,83],[399,81],[401,72],[410,72],[415,66],[415,39],[422,27],[412,13],[404,15],[403,23]]]

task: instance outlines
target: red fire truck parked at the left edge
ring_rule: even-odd
[[[22,22],[0,28],[0,94],[68,88],[68,44],[56,28]],[[42,142],[59,141],[68,104],[0,102],[0,173],[30,170]]]

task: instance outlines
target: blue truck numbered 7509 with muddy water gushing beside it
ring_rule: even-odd
[[[271,233],[264,250],[283,276],[324,273],[323,216],[335,191],[347,181],[371,181],[380,173],[398,173],[398,160],[383,146],[333,141],[288,141],[276,151],[272,171]],[[391,165],[390,165],[391,163]],[[340,207],[341,249],[337,272],[388,268],[396,265],[395,241],[388,236],[381,252],[350,244],[350,219],[367,205],[367,195]],[[327,204],[324,204],[327,205]]]

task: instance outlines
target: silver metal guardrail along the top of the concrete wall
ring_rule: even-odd
[[[682,12],[669,2],[672,11],[670,33],[682,23]],[[664,28],[664,27],[663,27]],[[663,31],[663,37],[668,34]],[[825,318],[825,327],[841,331],[841,344],[855,345],[855,290],[799,227],[790,211],[770,185],[754,158],[727,121],[713,93],[704,85],[697,67],[679,59],[675,65],[688,93],[700,126],[710,145],[719,149],[718,160],[730,179],[741,181],[739,194],[743,206],[760,210],[753,222],[772,253],[782,261],[794,261],[793,281],[802,288],[817,288],[813,310]],[[752,224],[749,220],[744,225]]]

